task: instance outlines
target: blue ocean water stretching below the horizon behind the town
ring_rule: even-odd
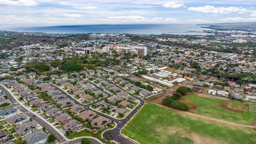
[[[196,24],[133,24],[133,25],[78,25],[78,26],[44,26],[44,27],[16,27],[12,31],[44,32],[44,33],[125,33],[125,34],[187,34],[204,35],[198,33],[202,25]],[[197,32],[188,32],[197,31]]]

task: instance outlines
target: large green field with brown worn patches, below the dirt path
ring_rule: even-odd
[[[147,104],[121,131],[140,144],[228,143],[253,144],[253,128],[228,125],[191,118],[176,110],[156,104]]]

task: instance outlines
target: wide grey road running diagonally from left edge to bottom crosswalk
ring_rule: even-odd
[[[60,144],[76,144],[77,142],[81,141],[82,138],[79,138],[77,140],[72,140],[72,141],[65,140],[64,137],[62,135],[60,135],[58,131],[56,131],[54,128],[52,128],[52,126],[50,126],[50,124],[45,122],[42,118],[40,118],[38,116],[34,118],[33,113],[29,112],[26,108],[24,108],[24,106],[22,106],[22,105],[16,106],[15,104],[13,104],[13,103],[17,102],[16,99],[2,85],[0,85],[0,90],[2,90],[2,92],[4,92],[4,94],[8,97],[10,102],[12,102],[12,106],[18,108],[21,112],[23,112],[24,114],[26,114],[27,116],[32,118],[35,122],[40,124],[42,127],[45,127],[48,132],[50,132],[51,134],[54,134],[56,137],[56,140]],[[88,138],[88,139],[91,141],[92,144],[100,144],[97,140],[94,140],[92,138]]]

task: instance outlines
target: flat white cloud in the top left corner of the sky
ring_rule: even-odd
[[[33,0],[0,0],[0,4],[3,5],[12,5],[12,6],[36,6],[36,3]]]

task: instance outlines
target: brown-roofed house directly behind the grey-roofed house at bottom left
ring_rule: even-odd
[[[35,124],[34,122],[26,122],[24,124],[16,126],[14,130],[18,133],[19,136],[23,136],[27,133],[36,132],[37,124]]]

